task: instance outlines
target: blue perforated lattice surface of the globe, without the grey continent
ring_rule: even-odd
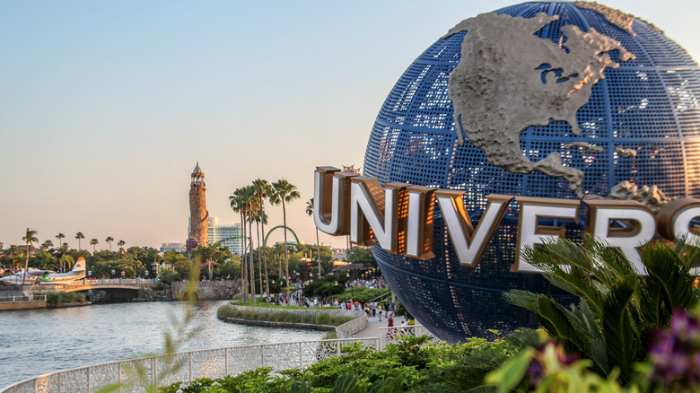
[[[538,13],[556,15],[556,20],[532,32],[567,53],[567,43],[573,45],[573,40],[564,33],[568,29],[565,26],[575,25],[582,33],[594,30],[617,41],[633,55],[623,57],[622,48],[606,51],[619,66],[605,67],[604,77],[586,93],[590,95],[588,100],[573,111],[573,120],[553,116],[545,125],[534,124],[521,130],[515,148],[526,162],[536,163],[550,153],[558,153],[565,169],[582,172],[580,186],[573,187],[571,179],[540,170],[518,171],[502,163],[494,164],[484,145],[477,147],[470,139],[475,134],[459,124],[459,119],[475,115],[468,113],[468,102],[467,109],[462,109],[455,121],[449,90],[455,83],[451,81],[453,71],[460,61],[469,60],[461,53],[463,43],[472,39],[468,29],[455,29],[438,39],[400,77],[372,128],[363,163],[366,176],[380,179],[382,184],[401,181],[464,190],[465,207],[476,221],[486,208],[489,194],[608,197],[619,191],[620,185],[626,185],[624,190],[630,194],[642,193],[643,186],[658,188],[664,200],[700,197],[700,71],[685,50],[648,22],[590,4],[525,3],[494,13],[526,19],[535,18]],[[625,17],[626,25],[620,22]],[[520,51],[527,57],[529,48]],[[552,74],[559,79],[551,83],[559,83],[567,76],[580,77],[577,73],[562,75],[546,59],[541,63],[531,69],[538,77],[542,74],[543,84],[554,81],[547,79]],[[472,76],[476,76],[476,81],[480,75]],[[508,77],[503,75],[504,79]],[[509,105],[506,109],[513,113],[522,109],[517,101]],[[503,113],[494,111],[493,116]],[[593,145],[595,150],[585,147]],[[377,246],[372,251],[398,299],[419,322],[444,340],[488,336],[491,328],[510,332],[521,326],[532,327],[537,325],[534,316],[503,301],[503,293],[525,289],[555,296],[564,294],[547,284],[541,275],[511,272],[517,217],[518,206],[512,204],[476,267],[459,265],[437,205],[433,228],[435,258],[407,258]],[[579,238],[580,228],[570,225],[566,236]]]

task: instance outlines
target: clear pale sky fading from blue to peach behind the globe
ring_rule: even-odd
[[[302,194],[289,226],[315,243],[314,168],[361,166],[407,66],[459,21],[516,3],[0,1],[0,241],[27,227],[74,248],[82,231],[83,249],[184,241],[198,161],[220,223],[239,221],[235,188],[284,178]],[[603,3],[700,59],[700,1]]]

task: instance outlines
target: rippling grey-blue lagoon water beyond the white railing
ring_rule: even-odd
[[[320,339],[313,330],[249,327],[216,319],[226,301],[200,301],[191,327],[200,331],[180,351]],[[47,372],[162,352],[163,332],[182,320],[178,301],[111,303],[0,314],[0,388]]]

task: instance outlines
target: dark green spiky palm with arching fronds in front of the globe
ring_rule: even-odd
[[[675,310],[698,304],[690,270],[700,261],[700,249],[683,241],[643,246],[648,275],[637,275],[619,249],[590,235],[583,245],[558,240],[523,252],[547,281],[579,298],[578,304],[564,307],[545,294],[516,290],[506,300],[534,312],[549,336],[567,352],[590,359],[600,375],[617,368],[625,384],[634,362],[646,357],[654,331],[668,327]]]

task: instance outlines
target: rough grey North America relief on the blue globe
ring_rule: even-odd
[[[606,52],[617,50],[623,61],[634,55],[592,28],[583,32],[565,25],[561,30],[566,40],[559,44],[533,35],[556,19],[546,13],[531,19],[484,13],[459,22],[448,35],[464,30],[468,34],[448,94],[459,144],[466,135],[492,165],[566,179],[583,198],[582,170],[564,166],[559,152],[531,162],[521,151],[520,135],[550,120],[566,121],[573,134],[580,135],[576,112],[591,98],[603,71],[619,66]]]

